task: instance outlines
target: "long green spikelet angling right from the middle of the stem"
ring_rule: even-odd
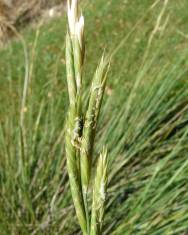
[[[87,193],[89,186],[92,154],[95,140],[98,116],[103,99],[109,60],[102,57],[90,90],[89,105],[86,112],[85,124],[83,128],[82,146],[81,146],[81,180],[84,194]]]

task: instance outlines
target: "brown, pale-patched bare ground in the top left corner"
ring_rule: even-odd
[[[63,14],[65,0],[0,0],[0,46],[15,30],[36,20],[50,20]]]

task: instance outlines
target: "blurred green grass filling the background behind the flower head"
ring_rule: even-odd
[[[165,2],[83,2],[86,89],[104,48],[114,54],[96,138],[111,167],[104,234],[188,232],[188,2]],[[65,32],[65,17],[39,22],[0,52],[2,235],[80,234],[64,153]]]

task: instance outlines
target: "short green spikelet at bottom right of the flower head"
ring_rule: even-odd
[[[108,183],[107,171],[107,150],[103,149],[98,159],[94,180],[90,235],[102,235],[102,222],[104,219],[105,200]]]

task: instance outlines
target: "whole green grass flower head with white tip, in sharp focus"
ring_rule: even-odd
[[[102,233],[107,189],[107,150],[100,154],[93,183],[92,215],[88,206],[92,155],[97,121],[104,94],[109,60],[104,55],[92,81],[89,102],[83,110],[82,71],[84,65],[84,17],[77,0],[68,1],[69,29],[66,37],[66,68],[69,113],[66,123],[66,157],[72,198],[84,235]],[[91,218],[90,218],[91,217]]]

